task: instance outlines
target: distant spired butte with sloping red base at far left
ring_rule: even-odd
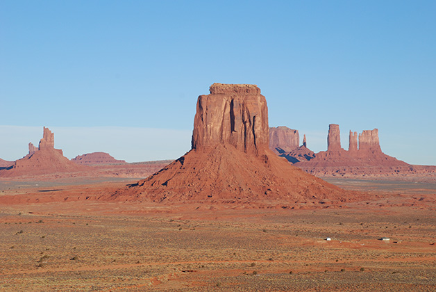
[[[10,167],[0,170],[0,177],[31,177],[58,172],[85,172],[85,166],[77,165],[63,156],[61,149],[54,148],[54,134],[44,127],[40,144],[28,145],[28,154],[15,161]]]

